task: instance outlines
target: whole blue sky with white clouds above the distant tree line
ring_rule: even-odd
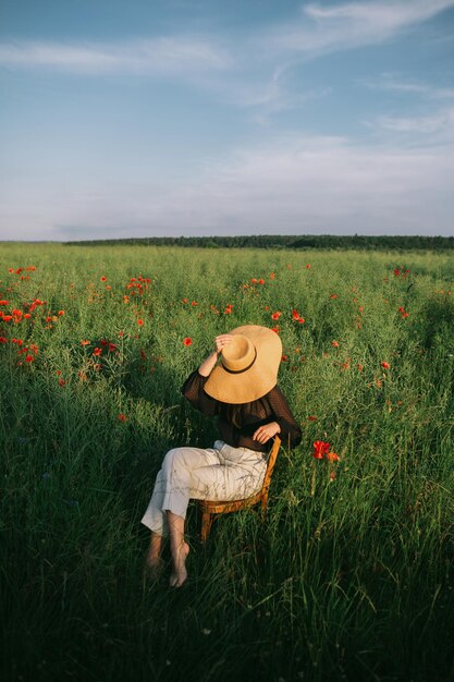
[[[0,239],[454,234],[454,0],[1,0]]]

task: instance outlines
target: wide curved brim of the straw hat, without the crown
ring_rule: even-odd
[[[205,383],[205,392],[231,404],[244,404],[266,395],[278,382],[278,370],[282,358],[282,343],[279,336],[258,325],[244,325],[233,329],[231,334],[243,334],[255,345],[257,357],[245,372],[232,374],[222,364],[211,372]]]

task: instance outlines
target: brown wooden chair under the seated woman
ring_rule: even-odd
[[[268,508],[268,490],[271,483],[271,476],[274,468],[275,460],[278,458],[279,448],[281,447],[281,439],[279,436],[274,436],[274,442],[271,451],[268,455],[267,471],[265,472],[263,485],[261,490],[253,495],[251,497],[243,500],[230,500],[221,502],[219,500],[198,500],[201,510],[201,532],[200,539],[205,543],[211,531],[212,523],[220,514],[228,514],[230,512],[240,511],[247,507],[261,503],[261,513],[265,515]]]

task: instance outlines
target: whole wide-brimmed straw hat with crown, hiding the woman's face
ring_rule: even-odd
[[[258,325],[236,327],[230,333],[233,339],[204,389],[216,400],[238,405],[262,398],[277,385],[282,343],[272,329]]]

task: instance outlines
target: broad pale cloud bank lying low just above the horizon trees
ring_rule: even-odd
[[[406,149],[285,136],[238,150],[185,183],[88,187],[81,181],[72,183],[71,193],[63,185],[35,186],[32,198],[24,188],[22,200],[16,194],[2,202],[0,234],[20,239],[20,226],[37,239],[61,240],[229,232],[453,234],[453,151],[452,145]]]

